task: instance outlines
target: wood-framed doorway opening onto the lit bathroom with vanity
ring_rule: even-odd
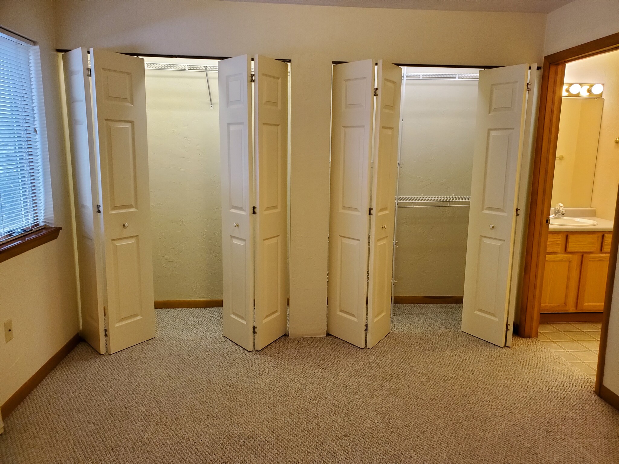
[[[597,317],[591,321],[600,326],[599,357],[591,361],[597,367],[595,392],[609,402],[613,393],[603,379],[608,346],[617,343],[608,333],[618,239],[618,49],[615,34],[545,57],[519,319],[522,336],[539,332],[569,351],[568,345],[587,346],[576,329],[589,321],[578,317]],[[551,327],[563,335],[548,335]],[[552,340],[557,335],[568,338]],[[596,351],[597,340],[588,342],[589,351]]]

